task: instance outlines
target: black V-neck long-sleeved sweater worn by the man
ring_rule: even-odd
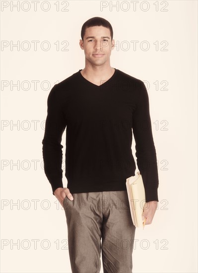
[[[116,69],[100,86],[80,73],[56,84],[48,96],[42,141],[45,174],[52,191],[63,188],[62,135],[66,129],[65,175],[70,193],[123,191],[137,167],[146,202],[158,201],[158,170],[144,83]]]

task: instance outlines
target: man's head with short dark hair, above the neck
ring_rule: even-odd
[[[85,64],[110,65],[114,40],[112,26],[107,20],[101,17],[87,20],[82,25],[81,38],[79,45],[84,50]]]

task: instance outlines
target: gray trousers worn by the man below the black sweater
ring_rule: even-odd
[[[64,199],[72,273],[132,273],[135,226],[127,191],[72,194]],[[101,244],[102,238],[102,244]]]

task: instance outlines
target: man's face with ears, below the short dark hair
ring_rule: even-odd
[[[111,41],[110,29],[103,26],[88,27],[79,45],[84,50],[86,62],[95,66],[110,63],[114,40]]]

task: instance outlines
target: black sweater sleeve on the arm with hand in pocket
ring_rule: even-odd
[[[47,100],[47,118],[42,140],[44,171],[52,186],[53,195],[57,188],[63,188],[63,145],[61,141],[66,128],[66,118],[62,103],[63,99],[56,84],[51,89]]]

